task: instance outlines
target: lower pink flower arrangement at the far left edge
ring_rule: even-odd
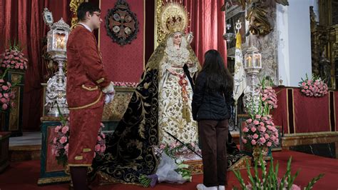
[[[14,107],[15,92],[11,91],[11,83],[0,79],[0,111]]]

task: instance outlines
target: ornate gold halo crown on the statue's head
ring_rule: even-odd
[[[175,2],[165,4],[160,15],[160,26],[167,34],[184,31],[188,26],[187,11]]]

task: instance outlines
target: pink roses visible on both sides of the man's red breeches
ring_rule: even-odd
[[[61,126],[56,126],[54,132],[56,133],[56,137],[54,137],[53,141],[51,142],[51,154],[56,157],[58,164],[65,165],[68,161],[68,141],[69,141],[69,117],[68,121],[65,122]],[[104,125],[101,123],[101,127],[98,130],[98,138],[96,141],[94,157],[96,156],[103,156],[104,152],[106,151],[106,136],[102,132],[102,128]]]

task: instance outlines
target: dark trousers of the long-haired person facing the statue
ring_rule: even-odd
[[[203,184],[227,184],[227,131],[228,120],[198,121],[203,156]]]

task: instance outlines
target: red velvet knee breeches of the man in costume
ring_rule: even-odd
[[[70,110],[69,166],[91,166],[102,114],[103,106]]]

